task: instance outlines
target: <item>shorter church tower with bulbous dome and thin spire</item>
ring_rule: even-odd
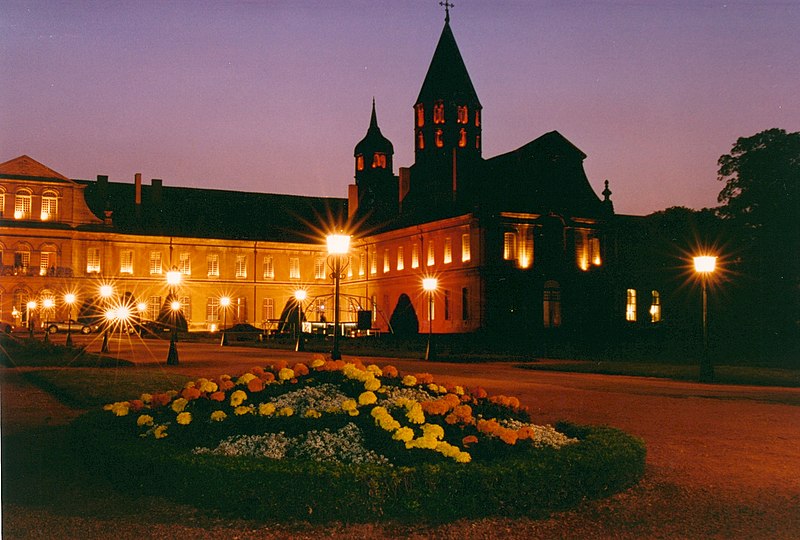
[[[356,145],[355,179],[358,214],[370,221],[385,220],[397,213],[397,178],[392,172],[394,146],[383,136],[372,100],[372,117],[367,134]]]

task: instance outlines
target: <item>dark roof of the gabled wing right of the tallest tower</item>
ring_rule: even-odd
[[[565,217],[604,216],[602,201],[583,170],[586,154],[557,131],[485,161],[490,183],[505,211],[556,213]]]

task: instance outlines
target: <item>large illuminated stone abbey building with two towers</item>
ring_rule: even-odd
[[[21,324],[75,317],[78,304],[103,302],[98,290],[108,282],[115,298],[156,318],[174,269],[190,330],[272,325],[298,288],[309,293],[307,318],[331,321],[324,237],[341,229],[353,238],[344,321],[369,311],[374,329],[413,321],[427,330],[423,277],[438,279],[436,333],[535,337],[624,321],[631,298],[614,270],[607,183],[601,199],[585,154],[555,131],[484,158],[481,113],[448,18],[410,114],[414,163],[394,174],[394,147],[373,102],[346,199],[168,187],[140,175],[133,183],[70,180],[27,156],[7,161],[0,316]],[[67,292],[76,305],[63,302]],[[232,299],[228,310],[222,297]],[[29,299],[40,301],[38,312],[28,313]]]

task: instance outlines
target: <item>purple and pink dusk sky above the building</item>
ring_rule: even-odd
[[[483,156],[552,130],[619,213],[716,206],[738,137],[800,131],[800,1],[454,0]],[[378,123],[413,164],[438,0],[0,4],[0,162],[346,197]]]

